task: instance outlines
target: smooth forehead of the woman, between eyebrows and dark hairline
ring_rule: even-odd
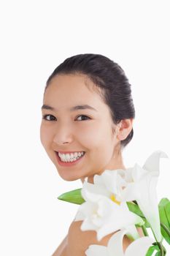
[[[72,80],[70,86],[69,77],[66,80],[61,78],[53,80],[45,91],[42,110],[53,110],[56,113],[88,110],[95,115],[106,115],[109,107],[103,102],[101,96],[95,91],[90,91],[82,83],[83,80],[81,83],[74,83],[75,81]],[[76,82],[79,82],[79,79]]]

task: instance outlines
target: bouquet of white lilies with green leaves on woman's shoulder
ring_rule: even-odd
[[[163,151],[155,151],[143,167],[135,164],[126,170],[104,170],[93,177],[93,184],[84,181],[82,189],[58,197],[80,205],[74,220],[82,220],[82,231],[96,230],[98,241],[118,230],[107,246],[91,244],[85,255],[166,255],[163,240],[170,244],[170,201],[162,198],[158,203],[156,192],[161,157],[168,158]],[[139,236],[138,227],[144,236]],[[125,235],[131,244],[124,252]]]

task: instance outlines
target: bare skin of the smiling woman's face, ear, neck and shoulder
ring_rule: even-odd
[[[61,178],[83,182],[88,177],[88,182],[93,184],[93,176],[101,175],[106,169],[125,170],[120,140],[125,140],[131,132],[133,119],[124,119],[115,125],[109,107],[87,76],[55,76],[45,91],[43,104],[53,110],[42,108],[42,116],[47,116],[42,119],[40,138]],[[70,111],[76,105],[90,105],[95,110]],[[63,167],[58,163],[55,151],[85,151],[85,156],[74,167]],[[95,231],[80,230],[81,223],[72,222],[68,235],[53,256],[84,256],[90,244],[107,246],[112,234],[98,242]],[[130,243],[125,236],[124,249]]]

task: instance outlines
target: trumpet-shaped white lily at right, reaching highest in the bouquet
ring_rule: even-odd
[[[168,158],[163,151],[155,151],[147,158],[143,167],[136,164],[133,168],[128,168],[124,171],[124,177],[121,171],[120,175],[125,179],[126,185],[116,196],[120,201],[136,200],[157,241],[162,239],[156,192],[161,157]]]

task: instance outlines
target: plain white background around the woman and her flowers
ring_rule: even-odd
[[[158,149],[170,157],[168,4],[1,1],[0,255],[52,255],[76,214],[57,197],[82,184],[60,178],[39,139],[45,82],[69,56],[99,53],[125,70],[136,109],[125,166]],[[169,162],[161,159],[159,200],[169,197]]]

